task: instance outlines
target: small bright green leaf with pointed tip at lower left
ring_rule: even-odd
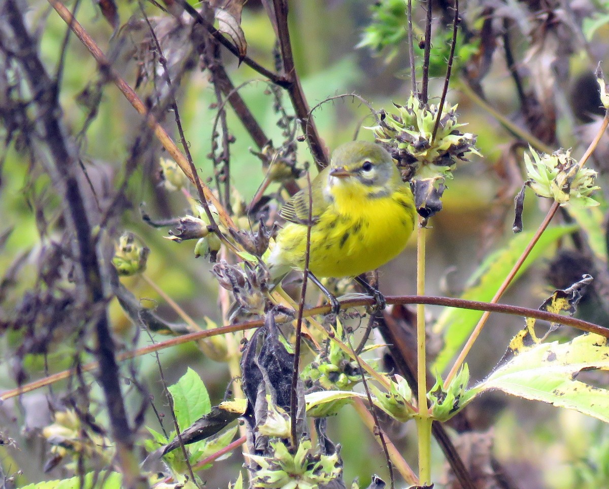
[[[184,431],[211,410],[205,384],[192,368],[188,368],[180,380],[167,389],[174,399],[175,418],[180,431]]]

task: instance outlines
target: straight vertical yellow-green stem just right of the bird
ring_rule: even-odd
[[[430,7],[431,8],[431,7]],[[417,295],[425,295],[425,235],[423,218],[417,227]],[[427,406],[427,362],[425,349],[425,306],[417,304],[417,403],[415,418],[418,435],[419,479],[422,484],[431,482],[431,417]]]

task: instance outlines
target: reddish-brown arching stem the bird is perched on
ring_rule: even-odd
[[[595,325],[594,323],[583,321],[575,317],[554,314],[552,312],[547,311],[540,311],[539,309],[522,308],[520,306],[511,306],[509,304],[491,304],[482,301],[470,301],[465,299],[456,299],[452,297],[418,297],[417,295],[398,295],[386,296],[385,300],[387,301],[387,304],[428,304],[433,306],[446,306],[449,308],[472,309],[473,311],[500,312],[502,314],[510,314],[519,317],[532,317],[548,322],[561,323],[565,326],[571,326],[572,328],[580,329],[580,331],[593,332],[594,334],[600,334],[600,336],[609,338],[609,328],[604,328],[603,326]],[[375,300],[373,298],[357,298],[340,301],[341,309],[373,305],[375,305]],[[305,311],[303,311],[303,317],[311,317],[318,314],[327,314],[329,311],[330,306],[328,305],[319,306],[317,308],[305,309]],[[294,318],[290,316],[278,316],[275,318],[275,320],[277,323],[286,323],[289,321],[293,321]],[[236,325],[220,326],[219,328],[206,329],[205,331],[197,331],[194,333],[185,334],[183,336],[164,340],[163,342],[158,342],[154,345],[147,345],[146,347],[138,348],[137,350],[119,353],[116,355],[116,359],[117,361],[122,362],[135,357],[153,353],[154,351],[164,350],[165,348],[175,347],[176,345],[181,345],[183,343],[188,343],[191,341],[197,341],[211,336],[259,328],[263,324],[264,320],[255,319],[252,321],[238,323]],[[320,326],[320,330],[321,329],[323,328],[321,328]],[[344,345],[344,343],[339,342],[337,339],[333,339],[333,341],[336,341],[339,346],[342,345],[342,347],[344,347],[345,349],[344,351],[350,351],[348,350],[347,345]],[[364,364],[364,367],[365,365],[366,364]],[[91,370],[96,369],[97,366],[97,362],[90,362],[79,367],[79,372],[90,372]],[[370,373],[371,375],[375,374],[376,376],[378,376],[378,373],[374,370],[368,373]],[[38,379],[37,381],[29,382],[29,384],[24,384],[21,385],[21,387],[17,387],[16,389],[11,389],[3,392],[2,394],[0,394],[0,401],[6,401],[7,399],[24,394],[26,392],[31,392],[32,390],[40,389],[40,387],[54,384],[55,382],[67,379],[76,374],[76,369],[71,368],[69,370],[63,370],[61,372],[55,373],[43,379]],[[384,382],[383,385],[386,385],[386,382]]]

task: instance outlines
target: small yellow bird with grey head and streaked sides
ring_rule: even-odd
[[[410,186],[383,147],[364,141],[342,144],[330,166],[311,182],[311,198],[304,188],[281,209],[287,223],[267,260],[275,283],[290,269],[305,268],[309,202],[309,272],[317,278],[357,276],[395,258],[406,246],[417,214]]]

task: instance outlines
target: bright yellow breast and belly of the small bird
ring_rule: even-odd
[[[337,182],[327,191],[331,202],[311,227],[309,270],[314,275],[359,275],[385,264],[404,249],[415,219],[407,184],[400,182],[395,191],[382,196],[353,182]],[[288,223],[281,231],[276,251],[285,264],[304,268],[306,232],[306,225],[299,223]]]

